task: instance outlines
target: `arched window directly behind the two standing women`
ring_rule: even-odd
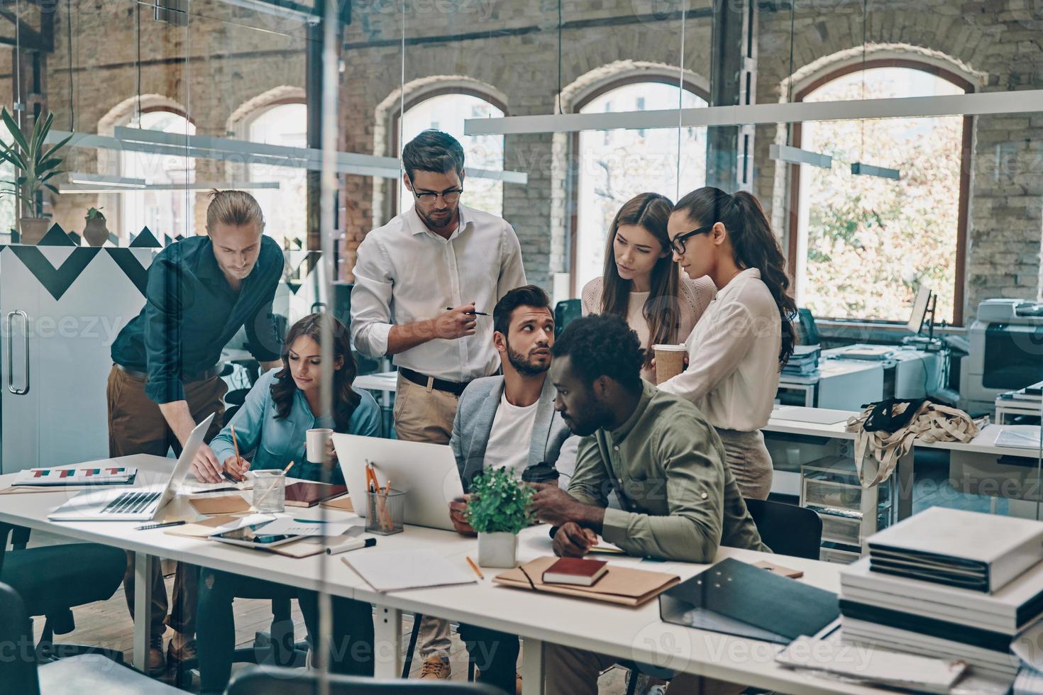
[[[577,104],[581,114],[657,110],[678,107],[677,79],[622,80]],[[706,105],[693,85],[680,95],[681,108]],[[605,234],[612,218],[638,193],[671,200],[706,181],[706,128],[583,131],[573,140],[578,165],[573,222],[575,292],[604,270]],[[680,172],[680,181],[678,180]]]

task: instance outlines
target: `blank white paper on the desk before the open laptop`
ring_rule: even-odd
[[[349,552],[342,560],[381,592],[478,581],[465,560],[453,564],[433,550]]]

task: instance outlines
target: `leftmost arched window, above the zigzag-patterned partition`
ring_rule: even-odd
[[[195,125],[191,121],[167,109],[143,113],[141,127],[181,135],[195,134]],[[165,187],[119,194],[121,234],[137,234],[146,226],[161,241],[164,234],[189,237],[195,233],[196,192],[184,188],[195,182],[194,157],[127,150],[120,153],[119,175],[143,178],[149,184]]]

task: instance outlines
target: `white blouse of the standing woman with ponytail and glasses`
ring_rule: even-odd
[[[719,429],[760,429],[779,388],[781,342],[775,299],[749,268],[718,292],[688,336],[688,369],[659,388],[690,400]]]

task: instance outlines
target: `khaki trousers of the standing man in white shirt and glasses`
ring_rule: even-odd
[[[399,375],[394,398],[395,436],[405,442],[448,444],[458,400],[451,393],[426,389]],[[416,642],[420,659],[448,659],[448,621],[423,616]]]

